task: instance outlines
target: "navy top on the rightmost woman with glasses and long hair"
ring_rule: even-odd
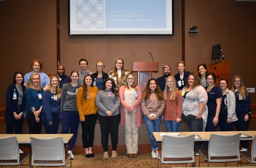
[[[249,114],[251,113],[251,96],[250,93],[246,90],[245,97],[246,100],[239,100],[238,91],[235,93],[236,96],[236,114]]]

